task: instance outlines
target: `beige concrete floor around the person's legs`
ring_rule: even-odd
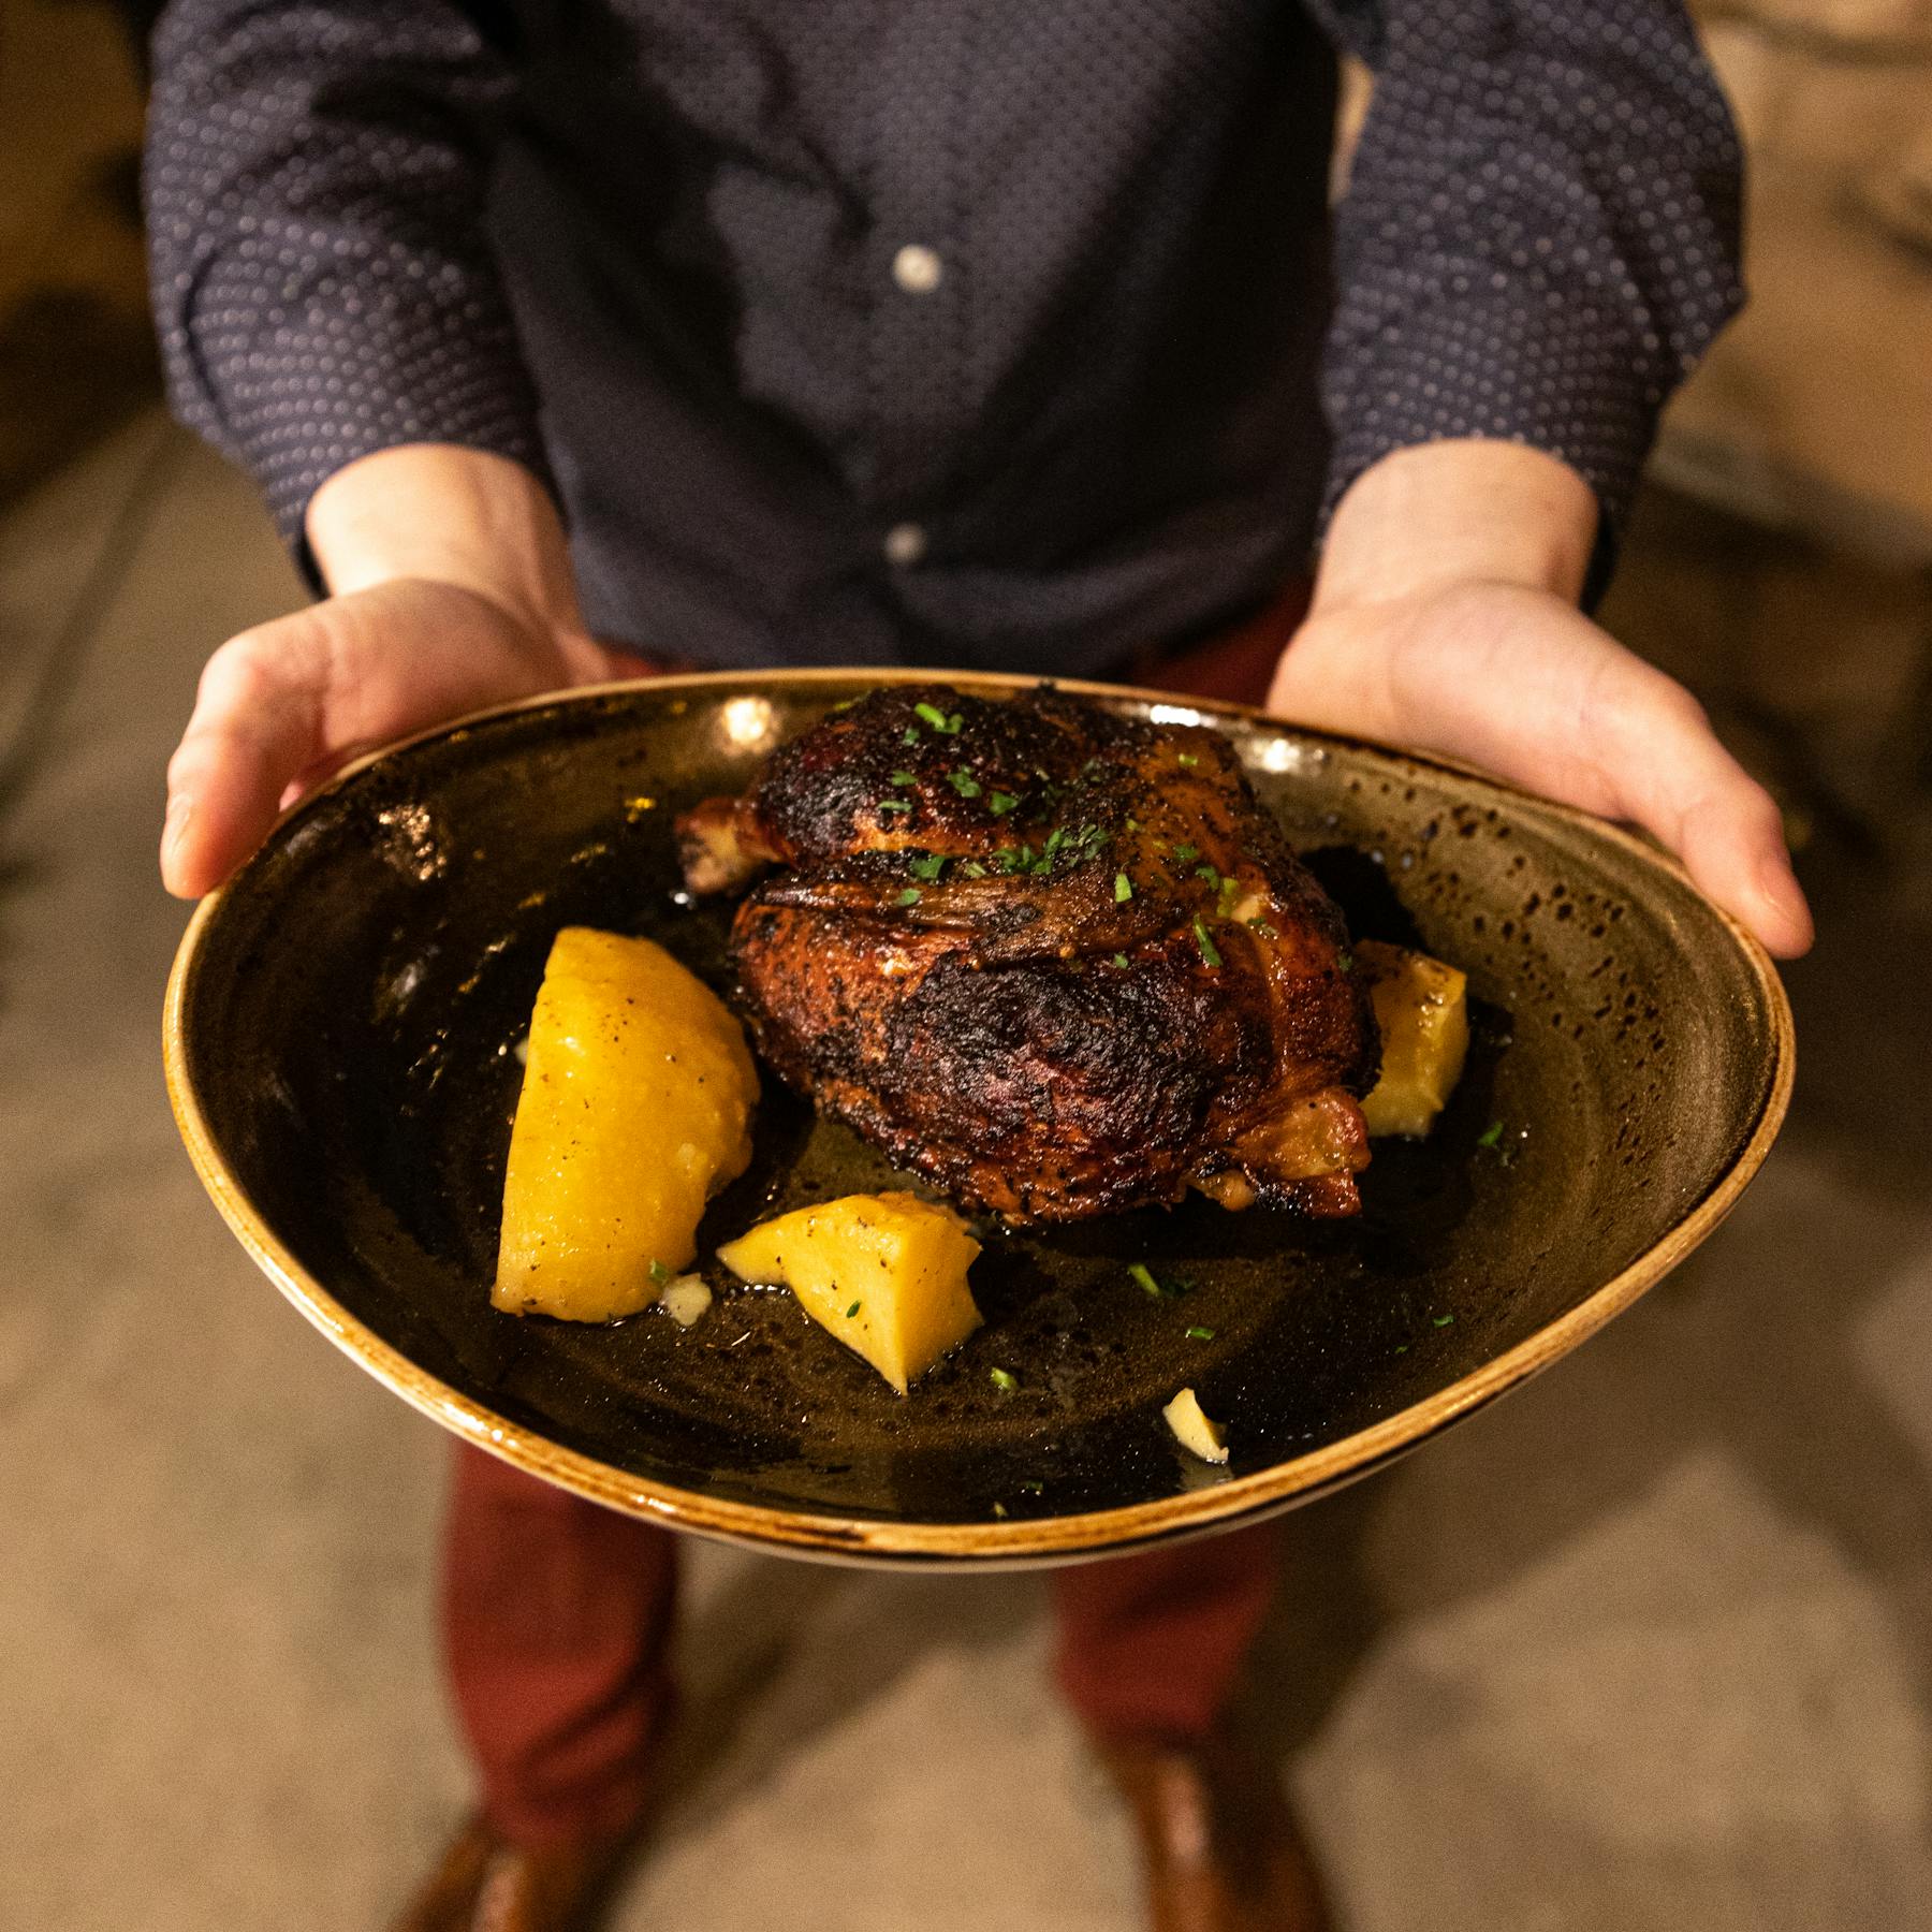
[[[466,1799],[442,1439],[255,1273],[168,1119],[160,769],[296,585],[158,417],[0,518],[0,730],[137,483],[0,833],[0,1926],[375,1928]],[[1797,1107],[1721,1236],[1296,1519],[1256,1692],[1356,1932],[1932,1928],[1932,866],[1808,871]],[[1034,1582],[690,1577],[618,1932],[1136,1922]]]

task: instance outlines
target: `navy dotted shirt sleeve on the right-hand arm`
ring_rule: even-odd
[[[1327,508],[1486,437],[1615,537],[1658,412],[1743,299],[1739,147],[1675,0],[1318,0],[1376,73],[1337,211]]]

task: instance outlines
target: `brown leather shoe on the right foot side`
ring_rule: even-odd
[[[1140,1828],[1153,1932],[1333,1932],[1281,1779],[1229,1737],[1113,1745],[1101,1762]]]

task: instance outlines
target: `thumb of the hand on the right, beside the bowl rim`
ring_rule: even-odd
[[[1663,840],[1698,889],[1777,958],[1812,943],[1812,918],[1791,869],[1783,813],[1718,742],[1700,705],[1658,678],[1634,715],[1605,734],[1604,775],[1621,815]]]

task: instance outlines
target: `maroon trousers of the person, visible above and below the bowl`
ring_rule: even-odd
[[[1132,667],[1142,684],[1260,703],[1306,585],[1238,630]],[[1101,1741],[1198,1737],[1225,1708],[1275,1584],[1275,1528],[1055,1571],[1055,1675]],[[672,1708],[676,1536],[462,1447],[444,1546],[450,1683],[491,1822],[524,1845],[620,1832]]]

